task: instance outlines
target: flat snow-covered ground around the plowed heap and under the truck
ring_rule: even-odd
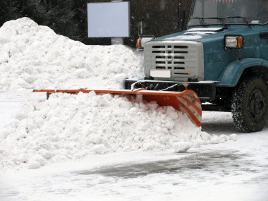
[[[42,95],[6,92],[0,99],[1,127],[27,96],[38,102]],[[88,154],[40,169],[3,169],[0,200],[266,201],[268,128],[238,133],[231,114],[220,112],[204,112],[202,121],[207,133],[236,133],[237,140],[192,147],[185,153],[166,149]]]

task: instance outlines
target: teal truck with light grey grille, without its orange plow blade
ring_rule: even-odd
[[[268,118],[268,0],[195,0],[188,28],[144,45],[142,80],[125,87],[194,90],[203,110],[231,111],[236,128]]]

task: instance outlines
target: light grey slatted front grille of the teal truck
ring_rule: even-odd
[[[170,80],[203,80],[202,48],[200,42],[148,42],[145,46],[145,74],[150,70],[168,70],[171,71]]]

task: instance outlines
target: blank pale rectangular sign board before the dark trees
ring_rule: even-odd
[[[129,37],[129,2],[87,4],[88,37]]]

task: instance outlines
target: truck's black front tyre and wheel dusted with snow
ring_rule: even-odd
[[[236,87],[231,111],[236,128],[243,133],[264,128],[268,118],[268,90],[262,79],[247,78]]]

